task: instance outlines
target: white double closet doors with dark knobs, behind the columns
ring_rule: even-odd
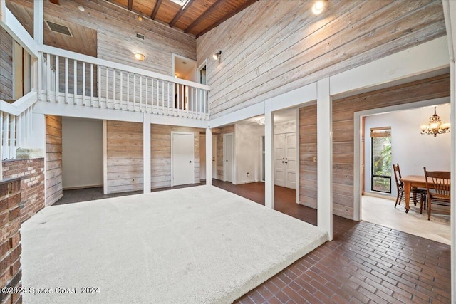
[[[274,135],[275,184],[296,189],[296,132]]]

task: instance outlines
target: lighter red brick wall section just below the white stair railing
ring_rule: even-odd
[[[21,223],[44,208],[44,159],[4,161],[4,179],[21,177]]]

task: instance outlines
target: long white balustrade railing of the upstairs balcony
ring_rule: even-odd
[[[207,85],[50,46],[39,46],[39,56],[42,101],[209,119]]]

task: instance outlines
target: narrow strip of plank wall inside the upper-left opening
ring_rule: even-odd
[[[0,99],[13,99],[13,37],[0,26]]]

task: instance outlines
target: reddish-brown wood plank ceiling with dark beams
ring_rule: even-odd
[[[107,0],[113,4],[179,28],[196,37],[202,36],[258,0]],[[182,2],[181,2],[182,1]],[[181,2],[183,5],[177,4]]]

